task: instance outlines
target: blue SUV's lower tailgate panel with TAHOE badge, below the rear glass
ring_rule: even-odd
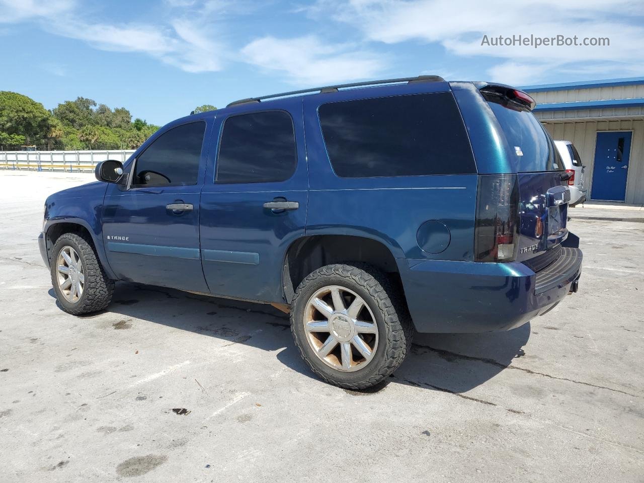
[[[529,260],[558,247],[568,234],[570,191],[559,171],[518,173],[519,243],[516,260]]]

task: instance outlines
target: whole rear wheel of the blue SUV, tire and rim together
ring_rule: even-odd
[[[296,290],[290,314],[303,359],[323,380],[343,388],[383,381],[401,365],[412,340],[399,289],[373,267],[315,270]]]

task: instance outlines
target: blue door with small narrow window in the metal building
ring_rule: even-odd
[[[592,169],[592,200],[625,200],[631,136],[630,131],[597,133]]]

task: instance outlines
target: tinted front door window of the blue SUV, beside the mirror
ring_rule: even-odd
[[[191,122],[156,138],[138,156],[132,185],[196,184],[204,129],[204,122]]]

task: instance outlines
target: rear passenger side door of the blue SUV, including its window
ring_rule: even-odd
[[[301,99],[220,115],[201,198],[201,247],[211,292],[282,302],[290,243],[304,235],[308,173]],[[213,138],[216,138],[213,135]]]

